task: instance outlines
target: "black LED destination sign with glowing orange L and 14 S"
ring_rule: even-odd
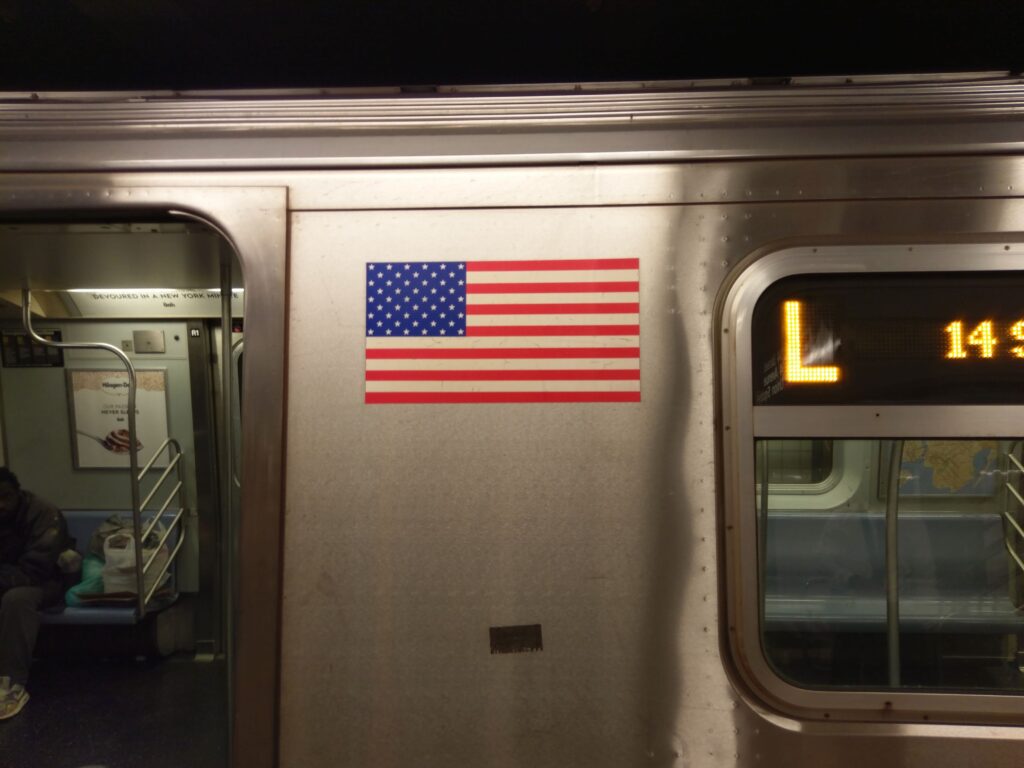
[[[752,351],[755,404],[1024,402],[1024,272],[786,278]]]

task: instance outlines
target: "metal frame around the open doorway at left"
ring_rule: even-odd
[[[181,173],[147,173],[142,185],[132,181],[131,174],[0,175],[0,221],[137,219],[182,212],[219,230],[237,252],[251,339],[245,376],[258,382],[245,388],[243,410],[260,418],[250,419],[242,434],[229,763],[270,768],[276,764],[280,715],[287,189],[175,185],[195,181]],[[0,254],[0,268],[2,259]]]

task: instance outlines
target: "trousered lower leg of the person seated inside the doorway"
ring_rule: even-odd
[[[39,634],[39,607],[46,597],[40,587],[15,587],[0,598],[0,720],[13,717],[29,694],[32,649]]]

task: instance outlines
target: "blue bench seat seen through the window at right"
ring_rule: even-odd
[[[878,513],[772,513],[765,630],[885,632],[885,522]],[[901,632],[1024,633],[1002,525],[994,513],[900,515]]]

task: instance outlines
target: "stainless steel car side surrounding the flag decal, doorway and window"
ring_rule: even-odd
[[[1022,268],[1019,79],[38,95],[0,96],[0,229],[184,213],[237,253],[232,765],[1020,762],[1020,690],[787,693],[737,384],[780,253]],[[6,253],[4,291],[191,268]],[[367,402],[368,264],[622,259],[638,401]],[[889,415],[873,436],[914,436]],[[829,418],[787,434],[848,437]]]

